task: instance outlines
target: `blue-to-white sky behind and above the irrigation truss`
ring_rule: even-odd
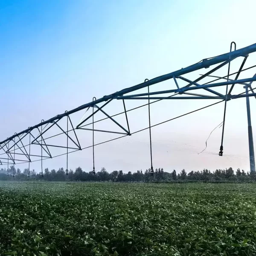
[[[238,49],[254,44],[255,8],[253,0],[0,0],[0,140],[41,119],[90,102],[93,96],[100,98],[146,78],[229,52],[232,41]],[[255,64],[255,57],[250,55],[245,67]],[[240,64],[241,59],[234,61],[231,70]],[[207,71],[187,77],[195,79]],[[218,75],[226,74],[225,66]],[[173,81],[167,81],[150,90],[171,87],[175,88]],[[146,103],[131,101],[127,100],[128,109]],[[212,100],[170,100],[152,104],[151,124],[210,103]],[[256,100],[251,98],[250,104],[256,134]],[[231,166],[249,171],[245,98],[227,104],[224,156],[218,156],[221,128],[211,135],[207,149],[198,154],[205,148],[209,133],[222,122],[223,107],[219,104],[152,128],[154,168],[179,172],[183,168],[213,171]],[[121,102],[115,102],[108,113],[122,110]],[[75,116],[76,122],[83,114]],[[147,116],[145,108],[129,112],[131,131],[147,127]],[[85,146],[91,144],[89,131],[79,134]],[[97,133],[96,143],[113,138],[109,136]],[[96,170],[148,169],[148,139],[145,130],[96,146]],[[61,143],[61,139],[56,140]],[[45,160],[44,167],[58,169],[65,166],[65,161],[65,156]],[[92,170],[92,148],[69,154],[69,168],[78,166]],[[31,168],[38,171],[41,163],[31,163]]]

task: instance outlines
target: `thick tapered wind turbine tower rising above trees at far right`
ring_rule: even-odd
[[[254,157],[254,147],[253,147],[253,130],[250,117],[250,99],[248,87],[245,88],[246,93],[246,108],[247,108],[247,121],[248,121],[248,140],[249,140],[249,155],[250,155],[250,173],[255,173],[255,157]]]

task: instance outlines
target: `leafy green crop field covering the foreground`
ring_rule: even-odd
[[[0,255],[256,255],[256,184],[0,182]]]

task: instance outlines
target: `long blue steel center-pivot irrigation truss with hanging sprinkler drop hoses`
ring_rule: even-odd
[[[93,97],[93,101],[86,103],[84,105],[81,105],[78,108],[75,108],[70,111],[65,111],[65,113],[62,113],[60,115],[57,115],[55,117],[52,117],[51,119],[44,121],[42,120],[41,123],[38,125],[31,126],[27,128],[24,131],[21,131],[19,133],[15,133],[11,137],[8,137],[6,140],[3,140],[0,142],[0,165],[7,165],[8,169],[8,175],[9,175],[9,165],[12,165],[13,167],[15,164],[20,163],[28,163],[28,176],[30,175],[30,163],[35,161],[41,161],[41,175],[43,175],[43,160],[58,157],[61,155],[67,155],[67,169],[66,174],[68,174],[68,154],[82,150],[84,148],[90,148],[93,149],[93,174],[95,174],[95,165],[94,165],[94,147],[96,145],[100,145],[102,143],[107,143],[111,140],[104,141],[102,143],[94,143],[94,136],[95,132],[107,132],[107,133],[113,133],[113,134],[120,134],[119,137],[116,137],[116,140],[121,137],[125,136],[131,136],[132,134],[138,133],[140,131],[144,131],[146,129],[149,130],[149,143],[150,143],[150,156],[151,156],[151,175],[154,174],[153,170],[153,163],[152,163],[152,146],[151,146],[151,128],[156,125],[163,124],[165,122],[169,122],[173,119],[177,119],[181,116],[188,115],[190,113],[194,113],[196,111],[202,110],[204,108],[209,108],[213,105],[219,104],[221,102],[224,102],[224,115],[223,115],[223,125],[222,125],[222,136],[221,136],[221,145],[219,150],[219,156],[223,155],[223,138],[224,138],[224,128],[225,128],[225,118],[226,118],[226,108],[227,108],[227,102],[231,99],[239,99],[246,97],[246,105],[247,105],[247,120],[248,120],[248,139],[249,139],[249,152],[250,152],[250,171],[255,172],[255,160],[254,160],[254,149],[253,149],[253,134],[252,134],[252,126],[251,126],[251,119],[250,119],[250,102],[249,97],[254,96],[256,98],[256,93],[254,93],[254,89],[252,88],[252,82],[256,81],[256,75],[245,78],[245,79],[239,79],[239,76],[242,72],[245,70],[250,70],[254,66],[250,66],[247,68],[244,68],[244,64],[249,56],[249,54],[256,52],[256,44],[252,44],[250,46],[236,49],[236,44],[234,42],[230,45],[230,52],[218,55],[212,58],[206,58],[202,61],[199,61],[196,64],[193,64],[189,67],[182,68],[180,70],[174,71],[172,73],[158,76],[154,79],[148,80],[145,79],[145,81],[141,84],[134,85],[132,87],[120,90],[116,93],[112,93],[107,96],[103,96],[100,99],[96,99]],[[239,63],[239,70],[235,73],[230,73],[230,64],[235,59],[241,59]],[[210,69],[211,66],[215,65]],[[226,76],[214,76],[213,73],[220,68],[227,65],[227,75]],[[201,69],[210,69],[207,73],[204,75],[200,75],[197,79],[194,81],[185,78],[183,75],[192,73],[197,70]],[[231,76],[235,75],[234,79],[230,79]],[[214,80],[208,81],[206,83],[200,83],[202,79],[214,77]],[[150,92],[150,86],[153,84],[158,84],[160,82],[173,79],[175,86],[174,89],[170,90],[162,90],[162,91],[154,91]],[[224,80],[224,81],[218,81],[218,80]],[[218,81],[218,82],[216,82]],[[181,84],[184,82],[186,83],[185,86],[181,86]],[[232,90],[234,86],[242,86],[244,88],[242,93],[233,95]],[[217,87],[223,87],[225,88],[226,93],[222,94],[212,89],[217,89]],[[230,87],[229,87],[230,86]],[[147,93],[137,93],[137,94],[130,94],[132,92],[135,92],[137,90],[140,90],[142,88],[148,88]],[[199,93],[192,93],[191,90],[205,90],[207,91],[206,94],[199,94]],[[169,95],[171,94],[171,95]],[[168,95],[168,96],[163,96]],[[126,109],[125,101],[131,100],[131,99],[144,99],[146,100],[146,104],[140,105],[136,108],[131,108],[129,110]],[[150,105],[154,104],[155,102],[161,101],[161,100],[170,100],[170,99],[215,99],[218,100],[218,102],[215,102],[211,105],[207,105],[203,108],[199,108],[197,110],[191,111],[189,113],[185,113],[180,116],[176,116],[175,118],[166,120],[164,122],[158,123],[156,125],[151,125],[150,122]],[[105,106],[110,104],[114,101],[119,101],[122,104],[123,111],[121,113],[117,113],[113,116],[110,116],[105,111]],[[127,112],[134,111],[138,108],[142,107],[148,107],[148,123],[149,126],[147,128],[141,129],[139,131],[130,131],[129,127],[129,120],[127,116]],[[79,124],[74,127],[72,122],[72,116],[74,113],[86,110],[88,111],[89,108],[92,108],[92,113],[87,116],[85,119],[81,119]],[[105,118],[100,119],[98,121],[94,121],[94,116],[96,113],[102,113]],[[124,115],[125,116],[125,125],[121,125],[119,122],[117,122],[114,117],[118,115]],[[89,124],[85,124],[85,122],[89,119],[92,119],[92,122]],[[122,130],[122,132],[116,132],[116,131],[107,131],[107,130],[98,130],[94,128],[94,125],[96,122],[100,122],[102,120],[109,119],[113,121],[119,128]],[[62,120],[62,124],[61,124]],[[66,120],[66,121],[65,121]],[[64,123],[63,123],[64,121]],[[87,125],[92,125],[92,128],[87,128]],[[125,127],[124,127],[125,126]],[[46,137],[46,133],[52,130],[53,128],[58,128],[58,133],[52,134],[52,136]],[[92,132],[92,145],[86,146],[84,148],[81,147],[78,131],[84,130]],[[65,146],[61,146],[58,143],[51,143],[49,141],[53,140],[55,137],[58,137],[60,135],[64,135],[65,137]],[[62,140],[63,141],[63,140]],[[73,144],[73,147],[70,145]],[[52,148],[62,148],[62,150],[65,150],[64,154],[52,154]],[[15,176],[14,172],[15,168],[13,168],[13,174],[10,173],[10,175]]]

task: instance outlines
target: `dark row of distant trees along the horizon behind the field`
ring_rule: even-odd
[[[35,172],[35,170],[24,169],[23,172],[19,168],[15,169],[11,166],[7,169],[0,169],[0,180],[48,180],[48,181],[112,181],[112,182],[185,182],[185,181],[203,181],[203,182],[228,182],[228,181],[254,181],[256,174],[244,172],[237,169],[236,172],[230,167],[228,169],[216,169],[210,172],[208,169],[203,171],[186,172],[183,169],[180,173],[175,170],[173,172],[164,172],[163,168],[155,169],[152,174],[151,169],[145,172],[137,170],[137,172],[123,173],[122,170],[107,172],[103,167],[95,175],[93,172],[84,172],[81,167],[64,170],[48,168],[44,170],[43,175]]]

